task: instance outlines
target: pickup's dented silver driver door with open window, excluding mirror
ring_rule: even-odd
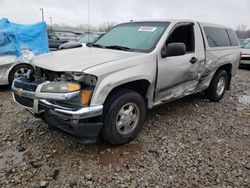
[[[170,32],[165,46],[184,43],[186,53],[180,56],[158,58],[156,103],[164,103],[195,92],[201,76],[205,52],[203,38],[197,23],[179,23]]]

